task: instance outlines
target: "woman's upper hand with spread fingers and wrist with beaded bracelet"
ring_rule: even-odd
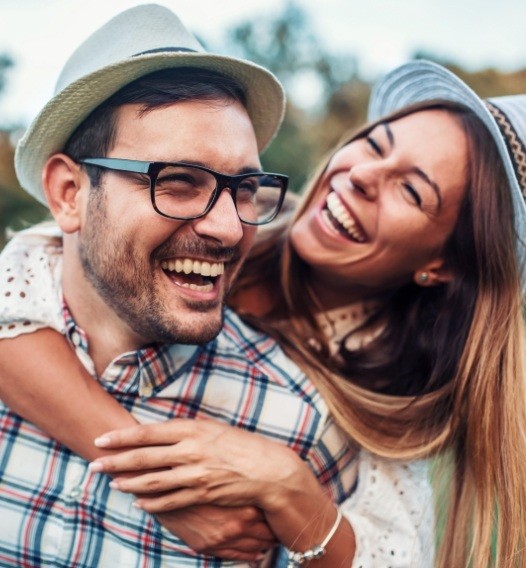
[[[280,542],[299,552],[321,544],[335,524],[334,504],[295,452],[238,428],[210,420],[174,420],[111,432],[97,445],[148,446],[98,459],[91,468],[113,476],[144,469],[145,463],[162,468],[112,481],[117,489],[142,494],[136,504],[149,512],[205,503],[255,505]],[[148,497],[152,492],[158,495]],[[316,566],[350,566],[354,552],[353,530],[342,519]]]

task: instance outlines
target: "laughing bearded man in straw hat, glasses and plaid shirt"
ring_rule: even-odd
[[[319,395],[272,341],[223,309],[256,226],[277,214],[286,189],[258,158],[282,113],[270,73],[206,53],[171,12],[141,6],[71,56],[16,167],[63,233],[62,264],[52,254],[64,299],[55,327],[105,389],[139,421],[214,417],[286,441],[342,500],[354,475],[339,470],[352,452]],[[77,426],[71,417],[64,430],[74,438]],[[220,565],[200,544],[207,514],[209,525],[224,522],[218,511],[159,518],[170,534],[6,407],[0,428],[2,566]],[[252,522],[263,544],[223,556],[252,559],[272,543]]]

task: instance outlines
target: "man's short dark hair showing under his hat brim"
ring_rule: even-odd
[[[142,113],[182,101],[240,102],[246,95],[234,78],[208,69],[161,69],[128,83],[99,105],[69,137],[64,153],[74,160],[105,157],[115,142],[117,109],[139,104]],[[100,184],[102,170],[87,166],[91,184]]]

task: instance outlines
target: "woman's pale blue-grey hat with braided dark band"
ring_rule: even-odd
[[[526,95],[483,100],[441,65],[417,60],[397,67],[376,83],[368,119],[378,120],[403,107],[433,101],[451,101],[469,108],[497,145],[512,194],[517,256],[526,288]]]

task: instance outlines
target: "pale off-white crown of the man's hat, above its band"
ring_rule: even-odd
[[[68,59],[55,94],[98,69],[145,52],[205,49],[170,10],[158,4],[130,8],[89,36]]]

